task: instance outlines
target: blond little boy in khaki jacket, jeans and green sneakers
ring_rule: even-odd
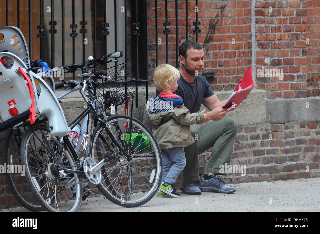
[[[180,194],[173,183],[186,165],[183,147],[195,142],[190,133],[190,125],[204,122],[206,119],[204,110],[190,114],[183,105],[182,98],[172,93],[178,87],[179,78],[177,68],[169,64],[157,66],[153,80],[160,93],[150,98],[146,106],[163,161],[162,183],[158,196],[174,198],[180,198]]]

